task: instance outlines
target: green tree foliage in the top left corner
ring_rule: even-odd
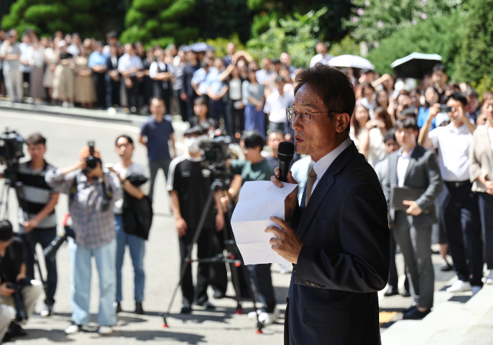
[[[1,20],[1,28],[22,33],[32,28],[38,35],[77,31],[81,35],[104,37],[122,24],[122,0],[17,0]]]

